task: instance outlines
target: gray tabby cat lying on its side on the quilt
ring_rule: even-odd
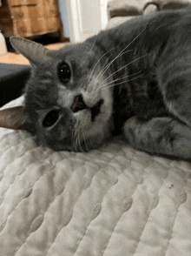
[[[40,144],[89,151],[123,132],[138,150],[191,158],[191,7],[58,51],[22,37],[10,43],[32,66],[23,111]]]

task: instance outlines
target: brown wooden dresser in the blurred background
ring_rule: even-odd
[[[4,37],[32,37],[58,31],[64,41],[57,0],[3,1],[0,24]]]

